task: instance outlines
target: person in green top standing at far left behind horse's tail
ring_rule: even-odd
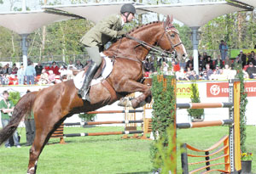
[[[15,108],[15,104],[11,100],[9,100],[9,93],[7,91],[3,91],[3,99],[0,101],[0,110],[2,115],[3,127],[9,124],[10,117],[12,115],[12,112],[14,111],[14,108]],[[15,131],[13,138],[14,138],[15,146],[17,148],[20,148],[19,135],[17,131]],[[5,147],[10,148],[9,139],[5,142]]]

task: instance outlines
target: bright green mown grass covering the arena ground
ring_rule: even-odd
[[[65,133],[75,132],[114,132],[123,127],[66,127]],[[255,126],[247,126],[247,152],[256,154]],[[19,130],[20,132],[20,130]],[[198,149],[207,149],[228,134],[228,127],[215,126],[177,131],[179,142],[186,142]],[[66,144],[52,138],[44,147],[38,160],[38,173],[149,173],[152,165],[149,147],[152,141],[122,139],[121,135],[65,138]],[[29,148],[26,143],[25,129],[21,131],[21,149],[0,147],[0,173],[26,173]],[[255,160],[254,160],[255,161]],[[253,172],[256,173],[256,162]],[[181,173],[180,154],[177,154],[177,168]],[[189,169],[190,170],[190,169]]]

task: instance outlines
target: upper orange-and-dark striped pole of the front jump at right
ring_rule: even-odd
[[[177,104],[179,109],[205,109],[205,108],[230,108],[233,103],[187,103],[187,104]]]

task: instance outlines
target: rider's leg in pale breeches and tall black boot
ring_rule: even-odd
[[[102,57],[100,55],[99,48],[97,47],[85,47],[91,61],[90,67],[85,73],[84,84],[82,88],[79,90],[79,96],[83,99],[86,99],[86,94],[88,93],[90,81],[98,70],[98,67],[102,64]]]

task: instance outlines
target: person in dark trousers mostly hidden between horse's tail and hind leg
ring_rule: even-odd
[[[30,91],[27,90],[26,93],[30,93]],[[31,146],[36,134],[36,126],[33,112],[26,115],[24,122],[26,126],[26,146]]]

